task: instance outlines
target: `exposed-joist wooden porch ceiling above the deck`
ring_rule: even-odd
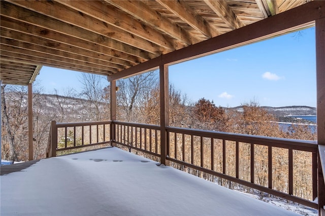
[[[310,0],[1,1],[1,76],[41,65],[111,76]]]

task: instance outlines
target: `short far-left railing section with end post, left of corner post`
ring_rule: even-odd
[[[111,143],[111,121],[56,123],[51,122],[47,157],[59,151],[74,150]]]

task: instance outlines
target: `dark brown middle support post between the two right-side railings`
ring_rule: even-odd
[[[169,137],[166,127],[169,126],[169,80],[168,65],[159,66],[160,85],[160,163],[169,166],[166,158],[169,155]]]

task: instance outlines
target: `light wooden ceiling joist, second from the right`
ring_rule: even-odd
[[[231,29],[237,29],[244,24],[237,18],[233,10],[228,6],[226,1],[204,0],[204,2],[229,25]]]

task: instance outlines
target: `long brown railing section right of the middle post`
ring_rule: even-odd
[[[284,138],[273,138],[265,136],[254,136],[246,134],[235,134],[235,133],[225,133],[225,132],[215,132],[206,130],[196,130],[196,129],[185,129],[176,127],[167,127],[170,152],[167,160],[181,164],[185,167],[194,168],[215,176],[227,179],[231,182],[235,182],[250,188],[257,189],[259,191],[266,192],[278,197],[285,198],[294,202],[301,203],[303,205],[318,208],[317,203],[294,196],[294,157],[293,151],[302,151],[310,153],[312,156],[312,199],[317,197],[317,143],[316,141],[306,141],[306,140],[293,140]],[[186,138],[185,138],[186,137]],[[186,140],[185,140],[186,139]],[[218,142],[219,149],[219,167],[222,164],[221,170],[216,170],[216,142]],[[250,174],[249,179],[240,178],[240,146],[246,145],[248,153],[249,162],[245,164]],[[233,146],[232,152],[226,151],[226,148]],[[256,174],[255,169],[257,164],[256,160],[256,150],[257,146],[266,147],[267,157],[267,186],[261,184],[256,184]],[[287,193],[281,192],[274,189],[273,185],[273,160],[272,157],[279,157],[275,155],[274,148],[285,149],[287,151],[286,157],[287,168],[288,168],[288,181],[287,181]],[[221,149],[221,150],[220,150]],[[189,150],[187,153],[186,150]],[[221,153],[220,153],[221,152]],[[227,154],[232,155],[229,158]],[[208,157],[208,158],[207,158]],[[195,161],[196,160],[196,161]],[[234,172],[232,174],[227,173],[228,166],[227,161],[233,161],[235,167],[232,167]],[[208,163],[208,164],[207,164]],[[266,169],[266,168],[264,168]]]

